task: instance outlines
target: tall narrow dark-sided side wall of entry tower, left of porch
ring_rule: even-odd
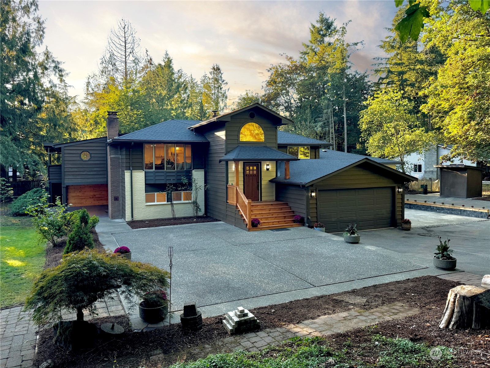
[[[209,140],[209,150],[206,158],[207,190],[206,210],[209,216],[226,221],[226,170],[225,162],[219,162],[225,154],[224,123],[205,134]]]

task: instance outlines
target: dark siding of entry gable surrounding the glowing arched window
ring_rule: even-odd
[[[226,123],[226,153],[230,152],[239,144],[260,144],[277,149],[277,125],[259,112],[254,119],[248,117],[250,111],[246,110],[233,115]],[[264,130],[264,142],[240,142],[240,130],[246,123],[257,123]],[[209,137],[208,137],[209,139]]]

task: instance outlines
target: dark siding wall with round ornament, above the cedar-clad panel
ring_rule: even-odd
[[[90,159],[80,158],[82,151],[90,152]],[[107,151],[105,139],[62,148],[63,186],[107,184]]]

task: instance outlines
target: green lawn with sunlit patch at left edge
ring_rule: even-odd
[[[0,216],[0,307],[25,303],[34,279],[43,270],[44,242],[26,217]]]

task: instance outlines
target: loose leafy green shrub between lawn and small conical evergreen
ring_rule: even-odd
[[[45,191],[35,204],[27,207],[26,212],[32,216],[36,233],[55,247],[58,244],[57,239],[66,235],[68,222],[66,209],[68,206],[63,205],[58,197],[55,206],[49,208],[48,198],[49,194]]]

